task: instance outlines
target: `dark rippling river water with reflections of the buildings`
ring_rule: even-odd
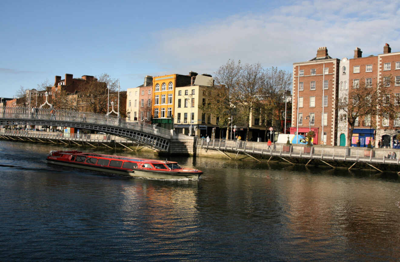
[[[400,260],[396,174],[180,157],[199,180],[124,179],[57,149],[0,141],[0,261]]]

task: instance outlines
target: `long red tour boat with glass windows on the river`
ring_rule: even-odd
[[[202,171],[197,169],[182,168],[177,162],[173,161],[111,156],[80,151],[52,151],[47,156],[47,161],[50,164],[143,178],[197,179],[203,174]]]

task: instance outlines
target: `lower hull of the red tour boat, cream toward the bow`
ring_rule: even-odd
[[[98,172],[105,172],[110,174],[116,174],[118,176],[124,177],[139,177],[139,178],[154,178],[154,179],[198,179],[200,174],[196,173],[185,173],[185,172],[158,172],[154,170],[116,170],[111,168],[103,168],[97,166],[89,166],[86,164],[75,164],[71,162],[64,162],[64,161],[56,161],[47,159],[49,164],[60,165],[60,166],[69,166],[72,168],[82,168],[87,170],[93,170]]]

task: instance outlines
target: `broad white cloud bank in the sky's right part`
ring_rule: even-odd
[[[228,59],[289,68],[326,46],[334,58],[400,51],[399,4],[385,1],[302,1],[264,14],[231,16],[157,33],[157,61],[170,72],[213,72]],[[363,9],[368,7],[368,9]],[[161,41],[160,41],[161,40]]]

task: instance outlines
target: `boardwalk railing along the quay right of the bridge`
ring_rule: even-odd
[[[370,166],[372,166],[371,164],[374,163],[398,165],[400,162],[400,154],[399,154],[400,150],[392,148],[368,149],[368,148],[341,147],[341,146],[310,147],[298,144],[292,144],[292,145],[272,144],[271,146],[268,146],[268,144],[265,142],[249,142],[249,141],[224,140],[224,139],[210,140],[210,142],[208,143],[206,142],[205,139],[198,139],[197,146],[204,148],[206,150],[218,150],[222,153],[224,153],[224,151],[235,152],[236,156],[239,152],[242,152],[256,160],[258,159],[250,154],[258,154],[271,157],[277,156],[286,161],[288,160],[285,159],[284,157],[309,158],[310,160],[316,159],[316,160],[321,160],[324,163],[326,163],[324,160],[354,162],[354,164],[357,162],[364,162]],[[395,156],[394,155],[392,156],[393,152],[395,153]],[[310,162],[310,160],[308,162]],[[330,164],[328,165],[333,167]],[[372,167],[379,170],[375,166]]]

